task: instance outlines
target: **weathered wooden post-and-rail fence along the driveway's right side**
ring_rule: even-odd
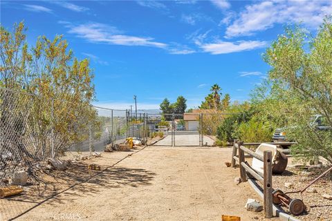
[[[262,185],[264,189],[264,214],[266,218],[273,217],[273,187],[272,187],[272,152],[264,151],[264,155],[259,155],[254,151],[250,151],[250,149],[243,146],[243,142],[234,141],[233,151],[232,151],[232,167],[236,166],[236,163],[239,163],[240,166],[240,178],[241,182],[246,182],[248,180],[247,173],[255,177]],[[259,143],[260,144],[260,143]],[[258,143],[247,143],[246,145],[259,145]],[[239,152],[239,155],[237,155]],[[257,160],[261,160],[264,162],[264,173],[262,174],[246,163],[246,155],[255,157]]]

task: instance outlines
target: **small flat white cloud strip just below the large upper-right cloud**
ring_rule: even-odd
[[[212,55],[228,54],[232,52],[241,52],[244,50],[253,50],[256,48],[264,48],[266,41],[216,41],[210,44],[201,44],[200,47],[204,52]]]

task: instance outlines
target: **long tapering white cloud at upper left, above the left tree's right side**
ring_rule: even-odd
[[[59,23],[64,23],[64,21],[59,21]],[[69,29],[68,33],[94,43],[122,46],[151,46],[156,48],[167,47],[167,44],[154,41],[151,37],[123,35],[116,27],[103,23],[84,23],[80,25],[64,23],[64,26]]]

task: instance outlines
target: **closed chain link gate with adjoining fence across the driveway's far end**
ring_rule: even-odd
[[[218,126],[231,115],[241,113],[153,114],[147,118],[149,135],[160,137],[156,146],[213,146]]]

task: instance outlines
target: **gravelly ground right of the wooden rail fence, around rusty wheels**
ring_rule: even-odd
[[[281,189],[284,192],[303,189],[326,169],[328,167],[324,166],[288,167],[283,175],[273,176],[273,188]],[[293,184],[293,188],[287,189],[284,186],[286,182]],[[316,189],[317,193],[308,193],[307,191],[302,193],[303,202],[308,208],[308,213],[299,215],[297,218],[300,220],[332,220],[332,200],[322,197],[323,194],[332,195],[332,173],[315,182],[311,186],[312,188]],[[301,199],[299,193],[292,193],[289,196]],[[288,211],[286,208],[283,209]]]

